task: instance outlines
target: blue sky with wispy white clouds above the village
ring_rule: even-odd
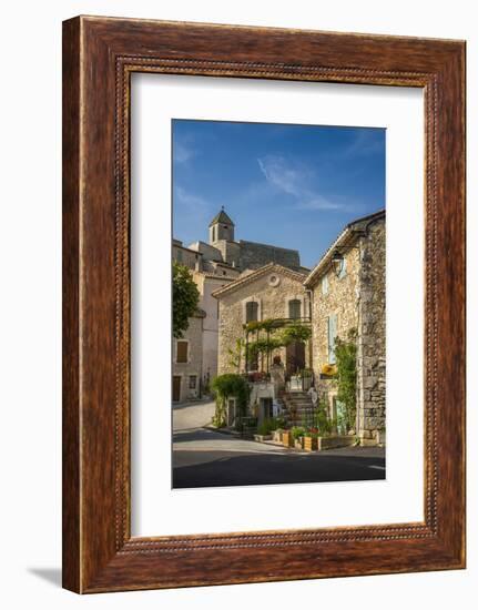
[[[207,242],[222,205],[236,240],[298,250],[312,267],[385,206],[385,130],[174,120],[174,237]]]

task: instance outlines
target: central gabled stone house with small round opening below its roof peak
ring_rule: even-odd
[[[261,353],[254,357],[248,348],[254,340],[267,335],[264,329],[248,332],[246,325],[264,321],[309,325],[309,298],[303,285],[305,277],[298,271],[268,263],[243,273],[213,293],[220,314],[218,374],[248,373],[253,378],[255,374],[260,375],[257,383],[251,386],[250,396],[250,413],[260,424],[273,416],[286,377],[311,367],[312,353],[309,345],[294,342],[287,347],[274,348],[268,355]],[[272,331],[269,337],[281,329]],[[264,373],[269,376],[263,377]],[[230,401],[227,421],[234,421],[235,416],[235,405]]]

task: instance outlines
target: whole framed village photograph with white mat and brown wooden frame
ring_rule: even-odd
[[[465,567],[465,42],[63,23],[63,586]]]

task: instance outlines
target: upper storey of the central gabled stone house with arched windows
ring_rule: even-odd
[[[215,291],[218,302],[218,374],[237,373],[232,364],[231,352],[236,350],[237,339],[246,340],[244,325],[265,319],[297,319],[309,322],[311,307],[304,279],[306,275],[269,263],[242,274],[240,277]],[[291,345],[276,349],[272,356],[279,356],[286,370],[295,373],[311,366],[311,353],[304,344],[302,348]],[[241,372],[257,370],[258,363],[253,358],[243,363]],[[247,365],[247,366],[246,366]],[[263,368],[263,367],[261,367]]]

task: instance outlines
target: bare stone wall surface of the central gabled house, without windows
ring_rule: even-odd
[[[271,285],[271,275],[279,277],[278,285]],[[243,324],[245,323],[246,301],[254,299],[258,302],[260,319],[288,317],[287,307],[289,299],[299,298],[304,306],[306,293],[302,282],[302,278],[295,279],[274,271],[220,297],[217,359],[220,375],[224,373],[236,373],[231,366],[228,349],[235,350],[236,340],[245,337]],[[307,353],[308,350],[306,350],[306,358]],[[275,354],[281,355],[282,362],[285,363],[285,349],[279,349]],[[243,358],[242,370],[244,370],[244,364]]]

